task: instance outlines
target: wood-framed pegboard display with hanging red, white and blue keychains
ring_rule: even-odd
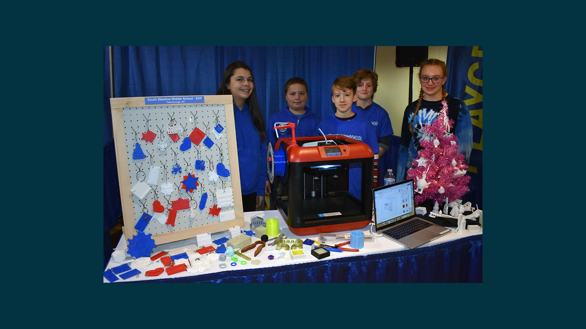
[[[165,105],[185,99],[200,102]],[[111,105],[125,237],[141,231],[159,245],[244,226],[231,95]]]

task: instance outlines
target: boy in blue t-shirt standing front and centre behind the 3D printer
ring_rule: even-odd
[[[318,127],[326,135],[344,135],[359,140],[370,146],[374,155],[379,153],[379,143],[372,124],[362,116],[352,112],[352,103],[357,99],[356,83],[350,77],[338,77],[332,84],[332,102],[336,105],[336,112],[327,116]],[[350,165],[349,192],[360,200],[360,183],[362,165]]]

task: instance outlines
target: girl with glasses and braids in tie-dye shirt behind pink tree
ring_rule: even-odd
[[[451,132],[458,137],[458,153],[469,162],[472,152],[472,120],[466,104],[445,91],[448,67],[444,61],[428,59],[423,61],[419,71],[421,91],[419,99],[407,105],[401,127],[401,143],[397,163],[397,181],[404,180],[411,162],[421,149],[420,140],[425,138],[425,125],[431,125],[440,114],[441,101],[448,102],[448,118],[454,121]]]

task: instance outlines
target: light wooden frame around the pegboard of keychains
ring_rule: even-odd
[[[205,102],[199,103],[180,103],[180,104],[146,104],[147,98],[182,98],[182,97],[203,97]],[[196,99],[196,98],[194,98]],[[128,176],[130,163],[126,153],[125,127],[123,118],[123,109],[125,108],[145,108],[161,107],[175,105],[224,105],[224,116],[226,118],[226,139],[228,144],[228,155],[231,170],[231,184],[234,196],[234,213],[236,218],[230,221],[214,222],[213,224],[203,225],[180,229],[179,231],[166,232],[163,234],[153,235],[156,245],[166,244],[168,242],[179,241],[183,239],[196,237],[198,234],[213,233],[225,231],[234,225],[244,227],[244,212],[242,207],[240,173],[238,163],[238,152],[236,146],[236,128],[234,125],[233,101],[231,95],[186,95],[186,96],[149,96],[149,97],[127,97],[127,98],[110,98],[112,109],[112,123],[114,131],[114,145],[116,149],[116,162],[118,165],[118,182],[120,183],[120,198],[122,201],[122,216],[124,217],[124,236],[129,239],[136,234],[134,226],[137,218],[135,217],[132,203],[132,193],[130,177]]]

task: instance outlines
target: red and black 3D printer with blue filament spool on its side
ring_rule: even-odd
[[[274,148],[268,143],[267,171],[291,232],[317,235],[366,227],[372,218],[372,149],[343,135],[295,138],[295,124],[284,124],[276,122],[275,129],[291,128],[292,137],[278,139]],[[350,193],[352,179],[360,180],[359,198]]]

